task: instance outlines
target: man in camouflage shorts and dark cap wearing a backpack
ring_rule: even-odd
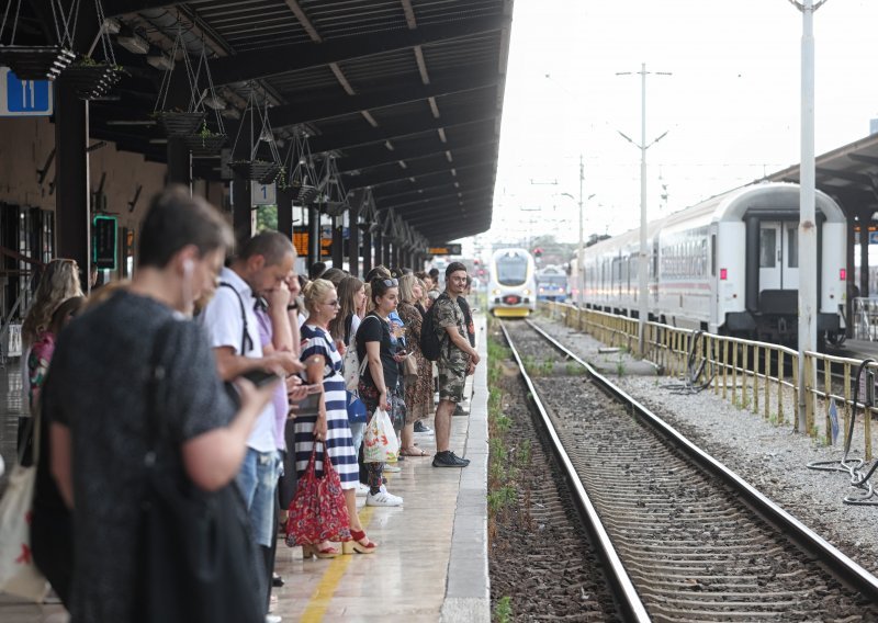
[[[434,327],[440,335],[439,354],[439,406],[436,407],[436,456],[434,467],[466,467],[468,458],[461,458],[448,449],[451,439],[451,415],[463,400],[466,376],[475,372],[479,353],[470,344],[466,321],[458,305],[466,287],[466,267],[451,262],[446,269],[446,291],[434,303]]]

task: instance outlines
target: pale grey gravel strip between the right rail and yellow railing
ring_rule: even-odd
[[[536,318],[534,324],[582,359],[600,359],[598,348],[604,344],[590,336],[545,317]],[[775,426],[711,392],[674,393],[667,387],[673,378],[632,374],[630,371],[638,370],[637,360],[624,353],[615,356],[624,365],[619,366],[621,375],[610,376],[614,383],[848,557],[878,574],[878,506],[843,503],[845,496],[858,492],[849,486],[847,474],[806,467],[812,461],[841,460],[842,435],[836,445],[825,446],[792,432],[789,424]],[[852,456],[862,453],[852,451]]]

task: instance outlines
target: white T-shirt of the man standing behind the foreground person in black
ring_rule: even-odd
[[[227,283],[235,288],[238,294],[232,292],[226,286],[216,288],[216,294],[201,313],[201,321],[207,330],[207,336],[212,348],[229,347],[236,355],[244,355],[255,359],[262,356],[262,343],[259,340],[259,325],[257,324],[254,305],[256,299],[250,286],[238,276],[238,274],[227,268],[219,273],[219,281]],[[240,301],[238,299],[240,296]],[[245,326],[240,314],[241,302],[244,303],[244,317],[247,319],[247,335],[249,340],[245,340],[248,347],[246,352],[240,352],[241,339]],[[269,403],[259,418],[256,420],[254,430],[247,440],[247,445],[257,452],[273,452],[278,445],[274,440],[274,408]]]

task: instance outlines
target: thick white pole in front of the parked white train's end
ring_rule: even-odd
[[[802,13],[801,53],[801,162],[799,163],[799,419],[807,431],[804,353],[817,348],[817,165],[814,161],[814,11],[826,0],[790,0]]]

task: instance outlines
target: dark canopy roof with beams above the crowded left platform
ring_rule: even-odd
[[[161,107],[187,110],[193,89],[183,49],[192,67],[204,49],[216,97],[205,73],[198,90],[225,106],[235,158],[250,148],[248,102],[267,104],[281,156],[307,136],[315,170],[335,158],[344,188],[370,189],[359,196],[372,197],[380,218],[393,214],[436,245],[491,226],[513,0],[72,4],[80,7],[75,52],[101,52],[102,11],[116,63],[128,72],[91,102],[92,137],[166,161],[165,135],[150,116],[166,77],[158,67],[177,49]],[[24,0],[15,43],[55,43],[57,5],[53,13],[52,0]],[[219,179],[219,158],[195,159],[194,172]]]

